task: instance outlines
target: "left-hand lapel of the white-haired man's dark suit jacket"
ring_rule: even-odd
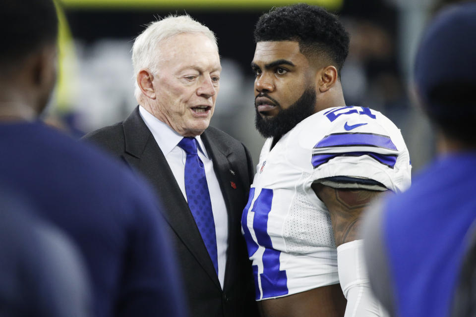
[[[154,186],[161,199],[163,205],[161,211],[167,222],[215,284],[221,288],[212,260],[180,191],[179,184],[152,133],[140,117],[138,107],[124,121],[123,127],[124,159]]]

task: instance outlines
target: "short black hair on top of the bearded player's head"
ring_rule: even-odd
[[[340,73],[349,53],[349,33],[336,15],[305,3],[271,9],[261,15],[254,29],[256,43],[297,41],[301,53],[327,54]]]

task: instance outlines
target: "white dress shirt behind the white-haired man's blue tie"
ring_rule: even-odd
[[[139,106],[139,113],[150,132],[154,136],[155,141],[159,145],[160,150],[167,159],[172,173],[179,184],[183,197],[187,199],[185,193],[185,161],[187,155],[179,146],[180,140],[183,138],[175,132],[166,123],[160,121],[142,106]],[[208,191],[210,192],[210,200],[212,203],[213,218],[215,220],[215,231],[217,234],[217,252],[218,252],[218,279],[223,288],[225,280],[225,265],[227,263],[228,249],[228,213],[223,199],[222,191],[218,183],[217,176],[213,170],[213,161],[208,157],[207,151],[203,145],[200,136],[196,136],[199,151],[198,157],[202,160],[205,167],[205,175],[207,177]]]

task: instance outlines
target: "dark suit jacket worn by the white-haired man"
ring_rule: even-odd
[[[163,202],[164,216],[181,265],[192,317],[258,316],[251,264],[241,235],[240,218],[253,179],[247,149],[228,134],[209,127],[201,135],[217,175],[228,211],[228,253],[222,291],[200,232],[172,170],[139,108],[121,123],[85,136],[144,175]]]

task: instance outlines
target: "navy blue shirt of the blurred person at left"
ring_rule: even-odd
[[[92,146],[42,123],[0,125],[0,180],[75,242],[95,316],[184,316],[155,197]]]

